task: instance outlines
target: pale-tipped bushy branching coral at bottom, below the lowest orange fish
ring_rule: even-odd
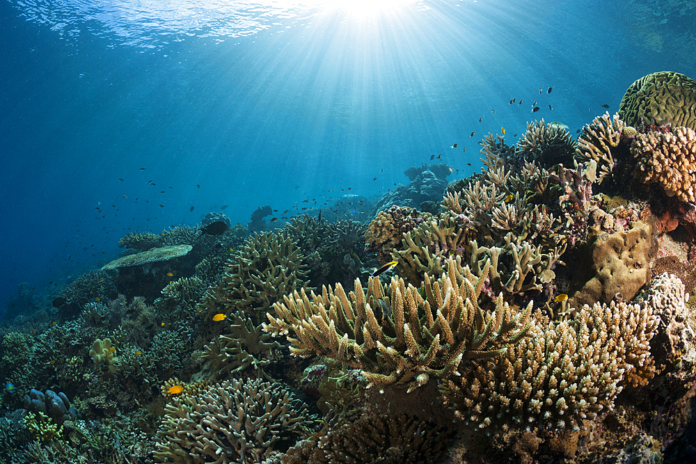
[[[258,379],[224,381],[178,400],[165,408],[157,463],[260,463],[311,424],[304,403]]]

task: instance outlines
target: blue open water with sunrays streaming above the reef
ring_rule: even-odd
[[[644,74],[696,77],[690,1],[338,3],[0,0],[0,313],[129,230],[381,195],[432,154],[470,175],[489,131],[575,133]]]

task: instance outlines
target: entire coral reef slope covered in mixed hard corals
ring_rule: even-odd
[[[409,168],[369,223],[128,234],[60,323],[4,331],[0,462],[696,459],[687,103],[658,72],[578,141],[489,134],[481,173]]]

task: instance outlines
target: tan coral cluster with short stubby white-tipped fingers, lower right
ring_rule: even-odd
[[[498,359],[459,369],[443,398],[481,429],[579,429],[612,410],[633,376],[649,375],[657,325],[647,306],[626,303],[585,305],[571,321],[536,314],[528,337]]]

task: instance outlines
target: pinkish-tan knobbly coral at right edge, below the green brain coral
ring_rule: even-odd
[[[671,132],[650,131],[638,134],[631,144],[638,159],[635,177],[647,184],[660,184],[667,196],[676,195],[684,202],[696,202],[696,132],[688,127],[673,127]]]

